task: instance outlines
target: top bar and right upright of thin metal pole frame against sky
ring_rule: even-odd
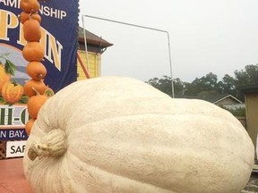
[[[119,24],[123,24],[123,25],[133,26],[133,27],[136,27],[136,28],[150,29],[150,30],[155,30],[155,31],[166,33],[167,34],[167,38],[168,38],[168,57],[169,57],[169,67],[170,67],[170,76],[171,76],[172,97],[173,98],[175,97],[175,94],[174,94],[173,69],[172,69],[171,51],[170,51],[170,39],[169,39],[169,33],[168,33],[167,30],[150,28],[150,27],[146,27],[146,26],[142,26],[142,25],[136,25],[136,24],[133,24],[133,23],[123,22],[123,21],[109,20],[109,19],[106,19],[106,18],[100,18],[100,17],[96,17],[96,16],[92,16],[92,15],[87,15],[87,14],[82,15],[82,18],[83,17],[88,17],[88,18],[102,20],[102,21],[115,22],[115,23],[119,23]]]

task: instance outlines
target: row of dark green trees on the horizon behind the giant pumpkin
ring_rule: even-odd
[[[241,71],[234,71],[235,77],[226,74],[218,81],[217,75],[210,72],[202,78],[196,78],[191,83],[174,79],[174,92],[176,97],[185,96],[211,96],[229,94],[245,101],[242,89],[252,84],[258,84],[258,64],[246,65]],[[147,81],[150,85],[172,96],[171,78],[163,76],[162,79],[154,78]]]

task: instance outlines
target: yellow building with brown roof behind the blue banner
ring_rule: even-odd
[[[84,32],[81,27],[79,27],[78,33],[77,80],[87,79],[87,73],[90,78],[99,77],[101,75],[101,55],[108,46],[113,46],[113,44],[85,29],[87,45],[85,49]]]

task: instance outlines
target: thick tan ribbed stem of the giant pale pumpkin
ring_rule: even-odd
[[[50,130],[46,136],[40,139],[39,143],[34,143],[29,148],[28,156],[30,160],[35,160],[50,156],[61,156],[67,149],[66,134],[64,130]]]

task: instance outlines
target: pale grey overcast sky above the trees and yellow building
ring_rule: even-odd
[[[257,0],[80,0],[82,15],[166,30],[173,78],[219,80],[258,63]],[[102,75],[140,80],[170,76],[167,34],[84,17],[85,29],[114,46],[102,55]]]

